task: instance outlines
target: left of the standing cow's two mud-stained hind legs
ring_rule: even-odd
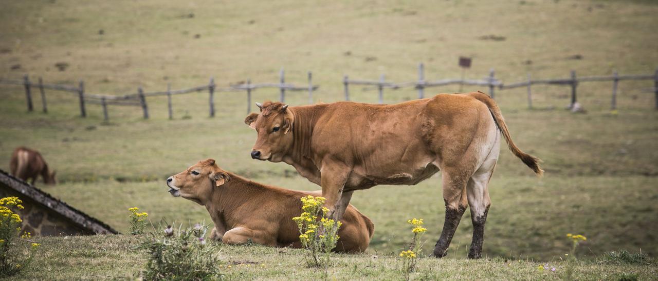
[[[461,216],[467,207],[466,185],[471,173],[459,169],[443,169],[443,201],[445,201],[445,221],[441,237],[434,246],[434,256],[443,257],[450,246]]]

